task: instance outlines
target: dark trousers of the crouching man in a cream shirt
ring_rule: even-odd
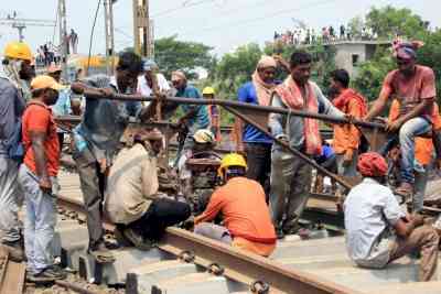
[[[190,205],[166,198],[154,199],[146,214],[129,227],[139,230],[150,240],[159,240],[166,227],[187,219],[191,215]]]

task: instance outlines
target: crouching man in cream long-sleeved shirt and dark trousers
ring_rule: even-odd
[[[190,217],[185,203],[158,197],[157,155],[163,137],[158,131],[135,135],[110,168],[105,209],[123,239],[141,250],[158,241],[165,228]]]

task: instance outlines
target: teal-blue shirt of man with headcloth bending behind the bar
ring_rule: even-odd
[[[197,98],[202,99],[201,92],[193,86],[186,86],[185,89],[179,90],[176,97]],[[190,128],[195,127],[195,130],[207,129],[209,127],[209,117],[206,106],[204,105],[181,105],[184,112],[196,109],[196,117],[190,120]]]

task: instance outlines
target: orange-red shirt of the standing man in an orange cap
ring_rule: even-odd
[[[56,135],[55,121],[52,110],[43,102],[31,100],[23,113],[22,137],[24,144],[24,164],[36,174],[34,151],[30,132],[44,132],[44,154],[46,155],[46,168],[50,176],[56,176],[60,168],[60,143]]]

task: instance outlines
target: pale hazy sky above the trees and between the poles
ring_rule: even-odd
[[[17,11],[26,19],[55,20],[56,0],[1,0],[0,18]],[[87,53],[90,30],[98,0],[65,0],[67,28],[79,35],[79,52]],[[364,15],[369,8],[391,4],[409,8],[432,26],[441,26],[440,0],[150,0],[150,14],[154,21],[154,36],[176,34],[180,40],[203,42],[222,55],[235,47],[272,39],[275,31],[286,31],[300,20],[309,26],[333,25],[338,28],[352,18]],[[118,0],[114,7],[116,50],[132,46],[132,1]],[[100,7],[93,53],[105,51],[104,9]],[[24,31],[25,41],[35,50],[37,45],[57,40],[53,28],[30,26]],[[54,39],[55,37],[55,39]],[[8,41],[17,40],[18,32],[0,25],[0,51]]]

